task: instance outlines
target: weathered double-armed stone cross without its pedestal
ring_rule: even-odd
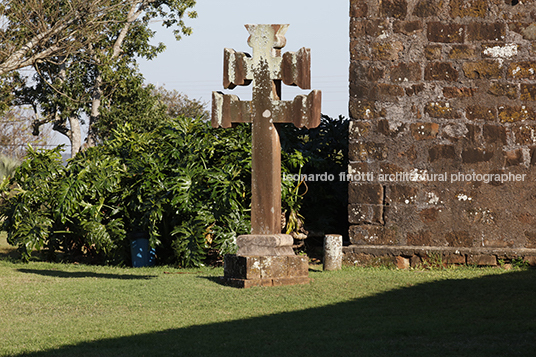
[[[314,128],[320,124],[321,92],[281,100],[281,82],[310,89],[311,52],[302,48],[286,52],[289,25],[245,25],[250,37],[250,56],[224,50],[223,87],[252,84],[252,100],[212,93],[212,126],[229,128],[233,123],[252,123],[251,233],[281,233],[281,148],[274,123],[294,123]]]

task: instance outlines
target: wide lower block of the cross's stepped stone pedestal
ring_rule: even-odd
[[[304,256],[227,254],[223,267],[224,283],[237,288],[309,283],[309,262]]]

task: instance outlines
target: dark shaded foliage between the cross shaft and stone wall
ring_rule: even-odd
[[[343,116],[322,115],[316,128],[281,127],[283,171],[315,178],[324,175],[322,180],[282,182],[283,210],[291,225],[288,231],[298,229],[299,221],[305,220],[309,231],[348,232],[347,182],[339,177],[348,170],[348,124]]]

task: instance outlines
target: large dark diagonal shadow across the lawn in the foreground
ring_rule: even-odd
[[[527,270],[28,355],[528,356],[536,349],[535,297],[536,271]]]

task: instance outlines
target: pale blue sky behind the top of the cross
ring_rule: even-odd
[[[197,19],[186,19],[191,36],[175,41],[155,23],[155,43],[167,49],[152,61],[140,61],[147,83],[176,89],[210,103],[212,91],[251,99],[251,87],[223,90],[223,49],[249,52],[244,24],[290,24],[283,51],[311,49],[311,86],[322,91],[322,113],[348,115],[348,0],[198,0]],[[283,99],[308,93],[283,86]]]

